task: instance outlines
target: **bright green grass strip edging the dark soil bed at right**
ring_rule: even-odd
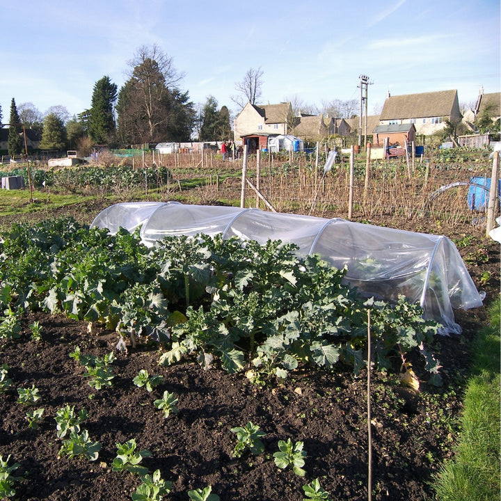
[[[491,324],[473,344],[472,375],[464,397],[454,460],[444,464],[434,488],[438,501],[500,500],[500,301]]]

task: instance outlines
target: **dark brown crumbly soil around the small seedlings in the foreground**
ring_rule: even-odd
[[[466,256],[480,246],[487,261],[480,257],[468,267],[477,287],[487,290],[488,303],[499,292],[499,245],[479,237],[475,247],[461,253]],[[491,273],[485,286],[479,283],[484,271]],[[434,498],[429,482],[440,464],[454,456],[470,341],[485,319],[485,308],[458,312],[463,335],[437,338],[442,388],[422,383],[421,392],[415,393],[401,387],[396,376],[373,374],[374,500]],[[43,327],[38,342],[30,337],[29,324],[35,320]],[[0,342],[0,363],[10,367],[13,380],[13,389],[0,395],[0,454],[3,459],[10,454],[10,462],[20,464],[15,472],[23,477],[15,484],[17,499],[130,500],[140,480],[129,472],[113,472],[111,463],[116,443],[131,438],[139,450],[151,452],[141,464],[150,472],[159,469],[162,478],[173,483],[164,499],[188,500],[189,490],[211,485],[221,500],[299,501],[302,486],[315,478],[333,500],[367,499],[365,372],[356,377],[343,367],[333,372],[303,367],[284,385],[261,389],[244,374],[204,371],[195,360],[161,367],[157,347],[145,344],[129,347],[127,354],[116,351],[113,386],[93,390],[69,353],[78,345],[83,353],[104,356],[117,341],[100,326],[89,334],[86,323],[29,313],[24,315],[22,337]],[[137,388],[132,379],[140,369],[161,374],[164,383],[153,392]],[[416,369],[420,374],[419,365]],[[36,430],[25,420],[29,408],[17,403],[17,388],[31,385],[42,395],[35,408],[45,409]],[[179,413],[167,419],[153,406],[164,390],[179,399]],[[54,416],[65,404],[88,411],[82,427],[101,444],[97,461],[58,457],[62,440],[56,436]],[[265,452],[236,459],[232,450],[237,440],[230,429],[249,421],[266,433]],[[278,440],[287,438],[304,443],[305,477],[280,470],[273,461]]]

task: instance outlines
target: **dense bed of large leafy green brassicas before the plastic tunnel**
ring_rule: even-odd
[[[18,335],[17,309],[64,312],[116,330],[123,346],[127,335],[133,345],[143,337],[163,344],[161,365],[193,357],[205,369],[240,372],[250,363],[251,379],[269,384],[299,364],[342,362],[360,372],[370,309],[376,369],[392,370],[392,358],[416,351],[439,383],[428,347],[440,326],[403,297],[362,299],[346,272],[281,241],[199,234],[148,248],[139,230],[111,235],[70,218],[13,225],[0,239],[0,335]],[[91,361],[81,360],[91,384],[111,385],[111,369]]]

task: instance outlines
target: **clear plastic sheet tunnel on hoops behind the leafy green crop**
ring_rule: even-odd
[[[461,333],[454,309],[482,306],[482,296],[456,246],[447,237],[354,223],[342,218],[264,212],[260,209],[184,205],[179,202],[124,202],[98,214],[91,227],[111,234],[141,226],[143,243],[167,236],[221,233],[223,238],[290,242],[299,254],[319,254],[363,296],[396,302],[399,295],[419,303],[424,317],[444,333]]]

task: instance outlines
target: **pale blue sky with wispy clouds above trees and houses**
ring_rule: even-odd
[[[296,98],[320,106],[359,100],[369,76],[369,114],[392,95],[480,86],[500,92],[500,0],[3,1],[0,105],[42,113],[90,107],[96,81],[120,88],[141,45],[156,44],[193,103],[230,96],[250,68],[263,72],[262,103]]]

